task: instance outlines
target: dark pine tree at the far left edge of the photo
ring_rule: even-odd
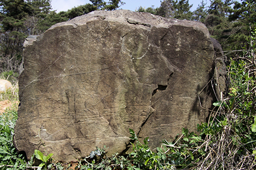
[[[32,14],[32,6],[23,0],[2,0],[1,6],[1,39],[0,71],[16,70],[22,58],[22,45],[27,33],[26,16]]]

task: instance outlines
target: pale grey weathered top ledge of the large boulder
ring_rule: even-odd
[[[73,27],[77,27],[78,25],[88,24],[96,20],[108,20],[110,22],[134,24],[135,26],[144,27],[144,29],[151,29],[151,27],[168,28],[171,25],[191,25],[191,27],[194,29],[203,31],[206,35],[209,35],[207,27],[205,27],[205,25],[201,22],[167,19],[148,12],[133,12],[130,10],[92,11],[89,14],[77,16],[68,22],[52,25],[52,27],[49,29],[54,29],[63,25],[73,25]]]

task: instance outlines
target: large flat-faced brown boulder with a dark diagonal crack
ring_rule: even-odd
[[[14,143],[74,161],[127,151],[129,128],[151,148],[196,130],[215,100],[214,48],[200,22],[94,11],[24,43]]]

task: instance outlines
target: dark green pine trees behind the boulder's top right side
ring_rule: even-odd
[[[139,7],[137,11],[202,22],[209,29],[210,36],[220,42],[224,51],[233,53],[229,57],[241,55],[242,48],[250,48],[247,39],[250,37],[250,30],[256,25],[255,0],[210,0],[208,6],[202,1],[193,12],[191,7],[187,0],[163,0],[158,8]]]

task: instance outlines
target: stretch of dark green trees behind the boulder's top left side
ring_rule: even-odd
[[[29,35],[41,35],[53,24],[65,22],[94,10],[115,10],[121,0],[90,0],[68,11],[52,11],[51,0],[0,1],[0,72],[18,72],[23,42]]]

